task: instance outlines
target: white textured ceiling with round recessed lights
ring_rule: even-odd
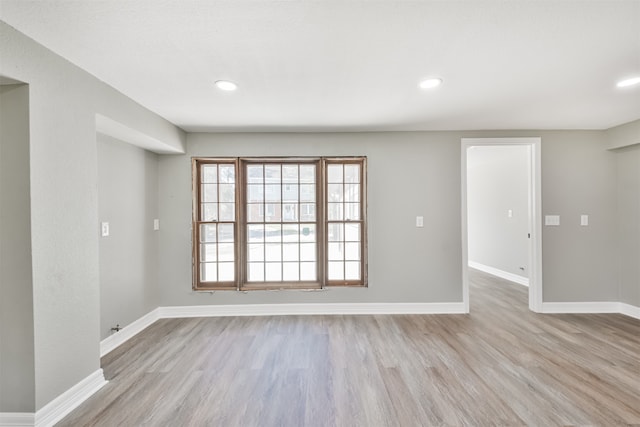
[[[0,0],[0,19],[186,131],[640,118],[640,87],[615,86],[640,75],[637,0]]]

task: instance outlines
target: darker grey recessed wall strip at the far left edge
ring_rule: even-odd
[[[29,87],[0,86],[0,412],[33,412]]]

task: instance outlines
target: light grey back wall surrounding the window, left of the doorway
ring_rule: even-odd
[[[162,305],[462,300],[457,134],[190,134],[187,150],[160,159]],[[192,292],[191,157],[278,155],[367,156],[369,288]]]

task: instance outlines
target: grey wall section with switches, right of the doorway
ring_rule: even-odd
[[[541,136],[542,214],[560,216],[559,226],[543,225],[543,300],[617,301],[616,156],[604,132]]]

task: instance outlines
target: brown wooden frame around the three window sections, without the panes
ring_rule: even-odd
[[[321,289],[326,287],[367,287],[367,159],[357,157],[193,157],[192,158],[192,267],[194,291],[216,290],[273,290],[273,289]],[[211,164],[233,164],[235,166],[235,215],[234,221],[203,221],[202,220],[202,166]],[[316,278],[313,281],[272,281],[249,282],[248,279],[248,249],[247,230],[247,165],[251,164],[314,164],[316,165]],[[335,164],[360,165],[360,279],[359,280],[328,280],[328,225],[327,200],[328,191],[327,167]],[[219,182],[218,182],[219,184]],[[281,187],[284,188],[281,182]],[[282,203],[282,202],[281,202]],[[266,211],[266,206],[265,206]],[[266,212],[265,212],[266,213]],[[201,225],[207,223],[234,224],[234,281],[206,282],[201,280]],[[343,221],[344,222],[344,221]],[[353,222],[353,221],[347,221]],[[266,224],[267,222],[265,222]],[[281,219],[280,223],[286,223]],[[298,216],[298,224],[303,223]],[[277,223],[276,223],[277,224]],[[298,261],[300,262],[300,261]]]

